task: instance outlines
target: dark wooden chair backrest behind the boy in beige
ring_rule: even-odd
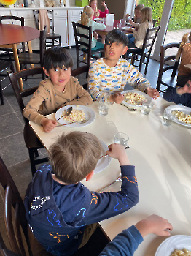
[[[23,98],[34,94],[34,92],[36,91],[38,86],[20,91],[19,84],[18,84],[18,79],[26,78],[29,75],[37,75],[37,74],[42,74],[42,73],[44,73],[42,67],[34,67],[34,68],[31,68],[31,69],[24,69],[24,70],[21,70],[21,71],[16,72],[16,73],[8,72],[9,80],[11,82],[12,89],[15,92],[15,97],[17,99],[17,102],[18,102],[18,105],[19,105],[19,108],[20,108],[20,112],[22,113],[22,116],[23,116],[23,109],[25,108]],[[26,119],[24,116],[23,116],[23,119],[24,119],[25,123],[28,123],[28,119]]]

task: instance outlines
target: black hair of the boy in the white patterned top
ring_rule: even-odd
[[[106,35],[106,45],[113,42],[121,42],[124,46],[128,46],[128,37],[119,29],[113,29]]]

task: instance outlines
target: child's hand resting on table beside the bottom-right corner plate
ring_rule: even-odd
[[[158,236],[170,236],[171,233],[168,230],[173,230],[171,223],[167,219],[157,215],[151,215],[147,219],[142,219],[135,226],[143,237],[149,233],[154,233]]]

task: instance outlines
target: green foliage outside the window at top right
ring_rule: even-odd
[[[139,0],[139,4],[152,8],[152,18],[160,25],[165,0]],[[191,29],[191,0],[174,0],[168,31]]]

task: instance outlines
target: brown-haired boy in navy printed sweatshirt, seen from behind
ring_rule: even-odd
[[[53,255],[72,255],[84,246],[101,220],[128,211],[139,201],[135,167],[122,145],[106,151],[118,159],[122,186],[118,192],[89,191],[101,156],[101,144],[86,132],[63,134],[50,146],[50,165],[36,171],[25,198],[26,219],[36,239]]]

